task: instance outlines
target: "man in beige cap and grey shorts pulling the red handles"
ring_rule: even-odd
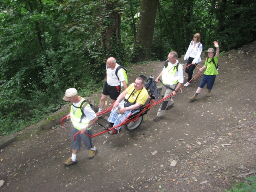
[[[72,121],[72,156],[63,163],[65,166],[70,166],[77,164],[76,153],[80,150],[82,141],[84,142],[86,149],[90,150],[88,156],[89,159],[94,158],[95,154],[98,152],[97,148],[93,144],[92,137],[85,134],[93,135],[92,125],[98,120],[98,117],[90,107],[90,104],[87,104],[83,109],[84,98],[78,96],[75,88],[69,88],[66,90],[63,100],[72,103],[70,114],[67,115],[67,119],[70,117]],[[79,131],[81,131],[81,133],[76,136],[76,141],[74,141],[74,135]]]

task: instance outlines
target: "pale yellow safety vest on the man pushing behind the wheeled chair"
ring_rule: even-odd
[[[175,74],[177,73],[178,69],[176,69],[176,65],[178,64],[178,62],[171,67],[170,64],[168,64],[168,66],[166,68],[164,68],[163,70],[163,74],[162,74],[162,80],[163,80],[163,84],[169,84],[169,85],[173,85],[173,84],[177,84],[178,83],[178,75],[175,76]],[[179,64],[178,68],[180,68],[182,66],[182,64]]]

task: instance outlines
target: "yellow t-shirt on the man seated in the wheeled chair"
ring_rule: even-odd
[[[128,94],[126,94],[126,96],[124,96],[124,98],[128,99],[130,94],[132,94],[128,100],[128,102],[135,102],[136,98],[136,103],[142,104],[144,105],[146,103],[146,101],[148,100],[148,91],[146,90],[145,87],[142,88],[142,90],[134,90],[134,92],[132,92],[134,90],[134,83],[130,84],[130,86],[128,86],[128,88],[126,89],[126,91],[128,92]],[[138,96],[139,95],[139,96]]]

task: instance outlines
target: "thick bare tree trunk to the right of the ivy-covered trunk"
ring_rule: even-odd
[[[136,42],[139,47],[146,50],[146,54],[140,52],[137,55],[137,60],[150,60],[151,59],[151,45],[154,34],[154,25],[156,20],[156,7],[158,0],[142,0],[140,20],[138,23],[138,32]]]

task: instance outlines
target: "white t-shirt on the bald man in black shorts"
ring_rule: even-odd
[[[122,69],[120,69],[118,72],[117,72],[117,75],[119,77],[119,80],[116,76],[116,68],[118,68],[118,65],[116,63],[116,66],[114,68],[114,70],[112,70],[111,68],[108,68],[106,66],[106,70],[107,70],[107,83],[110,85],[110,86],[118,86],[120,85],[120,82],[124,81],[125,78],[124,78],[124,74],[123,74],[123,71]]]

